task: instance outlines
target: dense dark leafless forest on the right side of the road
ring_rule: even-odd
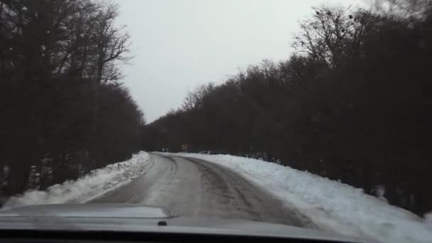
[[[322,6],[300,27],[287,60],[198,87],[144,148],[259,156],[432,210],[431,1]]]

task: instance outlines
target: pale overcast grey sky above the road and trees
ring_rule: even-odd
[[[239,68],[284,60],[312,6],[362,0],[117,0],[131,35],[125,85],[151,122],[180,107],[188,90]]]

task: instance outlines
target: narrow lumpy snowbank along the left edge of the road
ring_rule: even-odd
[[[146,152],[136,153],[128,161],[90,171],[82,178],[52,185],[45,191],[28,190],[10,198],[1,210],[23,205],[88,202],[143,174],[151,166],[149,158]]]

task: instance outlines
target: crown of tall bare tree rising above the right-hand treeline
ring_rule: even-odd
[[[360,55],[360,45],[375,19],[372,13],[363,9],[348,13],[347,9],[329,7],[313,10],[313,17],[301,23],[300,33],[294,36],[293,48],[329,69]]]

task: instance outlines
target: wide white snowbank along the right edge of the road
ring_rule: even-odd
[[[309,217],[323,230],[380,242],[432,242],[426,220],[359,188],[276,163],[229,155],[175,153],[227,166]]]

